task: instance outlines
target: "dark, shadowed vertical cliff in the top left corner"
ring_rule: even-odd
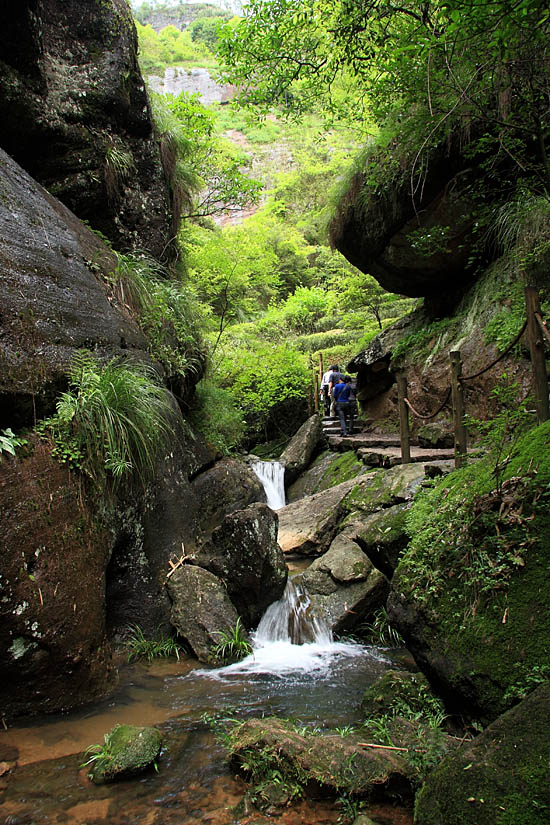
[[[0,32],[2,148],[115,248],[175,224],[126,0],[21,0]]]

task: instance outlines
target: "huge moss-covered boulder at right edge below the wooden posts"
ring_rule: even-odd
[[[483,459],[418,498],[392,580],[392,626],[448,709],[484,722],[550,672],[549,440],[546,422],[518,442],[500,492]]]

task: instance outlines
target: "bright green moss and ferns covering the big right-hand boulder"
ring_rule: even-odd
[[[518,440],[512,434],[506,452],[496,432],[492,454],[420,493],[406,521],[411,541],[400,565],[404,585],[414,582],[420,603],[449,589],[457,627],[472,621],[480,604],[506,593],[536,552],[534,517],[547,506],[550,461],[544,444],[550,423]]]

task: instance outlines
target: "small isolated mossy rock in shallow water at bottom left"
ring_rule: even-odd
[[[98,749],[88,776],[96,785],[135,776],[156,763],[161,747],[157,728],[116,725]]]

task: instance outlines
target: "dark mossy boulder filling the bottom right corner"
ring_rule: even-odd
[[[415,825],[546,825],[550,682],[444,759],[416,798]]]

